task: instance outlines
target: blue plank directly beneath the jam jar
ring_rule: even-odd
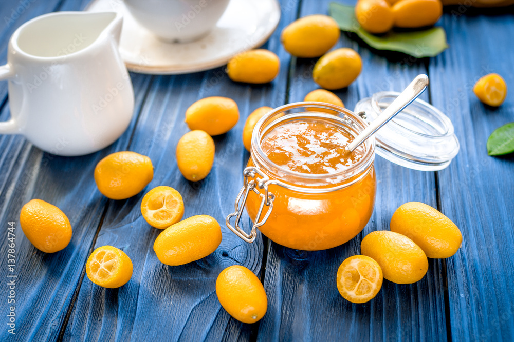
[[[326,13],[330,1],[303,2],[300,16]],[[363,97],[384,90],[401,91],[419,73],[425,61],[409,56],[370,51],[342,33],[337,47],[350,47],[363,61],[361,75],[347,89],[335,91],[353,109]],[[378,55],[376,54],[378,53]],[[314,59],[293,59],[289,102],[303,100],[319,88],[311,79]],[[422,98],[428,99],[428,94]],[[356,238],[327,251],[305,252],[270,243],[265,290],[268,313],[259,328],[259,340],[445,340],[443,273],[430,260],[428,274],[416,284],[397,285],[384,280],[370,303],[352,304],[339,294],[335,277],[341,262],[360,254],[362,237],[388,230],[393,212],[416,200],[436,207],[433,172],[413,171],[377,156],[377,197],[370,223]]]

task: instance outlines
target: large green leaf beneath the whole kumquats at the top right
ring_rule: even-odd
[[[355,17],[354,6],[331,3],[328,13],[339,24],[341,30],[357,33],[366,44],[377,50],[399,51],[420,58],[437,56],[448,48],[445,30],[440,27],[411,32],[390,31],[383,35],[374,35],[360,27]]]

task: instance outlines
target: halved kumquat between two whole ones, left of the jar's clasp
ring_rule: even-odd
[[[141,214],[150,226],[158,229],[168,228],[182,219],[182,196],[177,190],[167,186],[153,188],[141,201]]]

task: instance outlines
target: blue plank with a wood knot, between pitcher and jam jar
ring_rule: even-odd
[[[296,13],[296,3],[285,8],[280,26]],[[280,49],[280,29],[264,46]],[[136,126],[130,150],[150,156],[155,174],[146,188],[168,185],[185,202],[185,215],[208,214],[222,226],[223,240],[210,256],[188,265],[160,263],[153,242],[160,230],[150,227],[140,214],[143,193],[109,201],[95,247],[111,244],[123,249],[134,263],[132,279],[119,290],[105,290],[84,279],[64,335],[65,340],[219,340],[248,339],[252,326],[225,312],[215,294],[215,280],[225,267],[240,264],[260,275],[261,237],[251,245],[225,227],[234,200],[243,185],[242,171],[249,154],[242,144],[246,117],[255,108],[284,103],[288,59],[283,59],[277,79],[267,85],[230,81],[224,68],[189,75],[154,78]],[[183,122],[186,109],[207,96],[228,96],[240,109],[240,120],[230,132],[214,137],[216,155],[208,177],[188,182],[176,166],[175,148],[189,131]]]

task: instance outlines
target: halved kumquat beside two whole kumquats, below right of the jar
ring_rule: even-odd
[[[352,303],[366,303],[382,287],[382,269],[372,258],[354,255],[345,259],[337,270],[337,289]]]

